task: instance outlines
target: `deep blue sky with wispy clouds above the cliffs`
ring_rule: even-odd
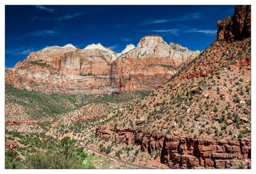
[[[115,52],[159,34],[169,44],[203,50],[216,37],[217,21],[233,6],[6,6],[6,67],[46,46],[77,48],[101,43]]]

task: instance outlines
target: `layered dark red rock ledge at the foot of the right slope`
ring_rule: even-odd
[[[96,134],[108,141],[141,145],[143,151],[160,154],[170,168],[250,168],[250,139],[194,139],[166,136],[143,130],[126,130],[97,126]]]

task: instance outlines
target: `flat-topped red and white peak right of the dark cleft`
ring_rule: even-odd
[[[144,36],[136,48],[113,62],[113,84],[120,92],[153,90],[199,53],[171,47],[159,35]]]

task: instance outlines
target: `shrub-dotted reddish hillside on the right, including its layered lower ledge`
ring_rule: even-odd
[[[246,21],[243,26],[238,16]],[[218,27],[229,21],[249,32],[248,17],[250,6],[235,6],[234,16]],[[170,82],[101,120],[96,134],[136,143],[170,168],[250,168],[250,33],[223,40],[221,33],[230,29],[218,28],[215,42]]]

